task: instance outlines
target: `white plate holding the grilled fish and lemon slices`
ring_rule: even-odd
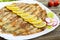
[[[40,2],[37,2],[37,1],[16,1],[16,2],[0,2],[0,9],[2,8],[2,7],[4,7],[4,6],[6,6],[6,5],[9,5],[9,4],[12,4],[12,3],[21,3],[21,2],[23,2],[23,3],[37,3],[37,4],[39,4],[43,9],[45,9],[46,10],[46,12],[48,13],[48,12],[52,12],[52,11],[50,11],[47,7],[45,7],[42,3],[40,3]],[[59,18],[55,15],[55,13],[54,13],[54,16],[55,16],[55,18],[58,20],[58,23],[57,23],[57,25],[55,26],[55,27],[52,27],[51,29],[45,29],[44,31],[42,31],[42,32],[39,32],[39,33],[35,33],[35,34],[31,34],[31,35],[26,35],[26,36],[13,36],[12,34],[2,34],[2,33],[0,33],[0,36],[1,37],[3,37],[3,38],[5,38],[5,39],[9,39],[9,40],[21,40],[21,39],[32,39],[32,38],[36,38],[36,37],[38,37],[38,36],[42,36],[42,35],[44,35],[44,34],[47,34],[47,33],[49,33],[49,32],[51,32],[51,31],[53,31],[55,28],[57,28],[58,27],[58,25],[59,25]]]

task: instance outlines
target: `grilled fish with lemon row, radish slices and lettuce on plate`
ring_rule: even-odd
[[[13,3],[0,9],[0,29],[15,36],[34,34],[47,26],[55,26],[57,21],[52,19],[54,15],[38,4]]]

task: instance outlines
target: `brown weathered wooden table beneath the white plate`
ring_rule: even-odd
[[[46,7],[48,7],[47,4],[49,0],[37,0],[37,1],[43,3]],[[60,18],[60,5],[57,7],[48,7],[48,8],[53,12],[55,12],[57,16]],[[3,40],[3,39],[0,38],[0,40]],[[37,37],[34,39],[30,39],[30,40],[60,40],[60,26],[57,27],[54,31],[46,35],[43,35],[41,37]]]

